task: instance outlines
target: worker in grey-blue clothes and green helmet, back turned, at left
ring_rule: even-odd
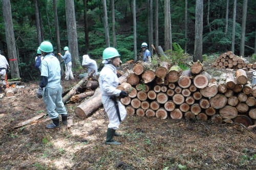
[[[44,59],[41,61],[39,67],[41,71],[41,81],[37,90],[37,97],[42,98],[46,105],[49,117],[52,119],[52,124],[47,125],[46,128],[52,129],[59,127],[59,114],[61,115],[61,122],[67,124],[68,114],[62,102],[61,93],[62,87],[60,85],[61,69],[59,60],[51,55],[53,46],[51,42],[44,41],[40,44]],[[56,111],[55,111],[56,109]]]

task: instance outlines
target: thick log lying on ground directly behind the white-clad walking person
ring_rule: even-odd
[[[91,71],[92,72],[92,71]],[[90,106],[90,107],[88,107]],[[95,90],[95,93],[91,98],[84,101],[75,108],[75,113],[78,117],[87,118],[94,113],[99,107],[102,106],[100,88]]]

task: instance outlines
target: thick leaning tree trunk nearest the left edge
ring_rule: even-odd
[[[2,0],[3,16],[5,22],[5,35],[7,41],[8,58],[12,79],[20,78],[17,61],[16,42],[13,32],[12,11],[10,0]]]

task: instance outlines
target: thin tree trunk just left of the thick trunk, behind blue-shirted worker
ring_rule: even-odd
[[[53,0],[53,11],[54,11],[54,25],[55,25],[55,34],[56,34],[56,43],[57,43],[57,53],[61,53],[60,50],[60,40],[59,40],[59,22],[58,22],[58,13],[57,13],[57,4],[56,0]],[[62,58],[58,55],[58,60],[61,62]],[[64,74],[63,65],[60,64],[61,76]]]

